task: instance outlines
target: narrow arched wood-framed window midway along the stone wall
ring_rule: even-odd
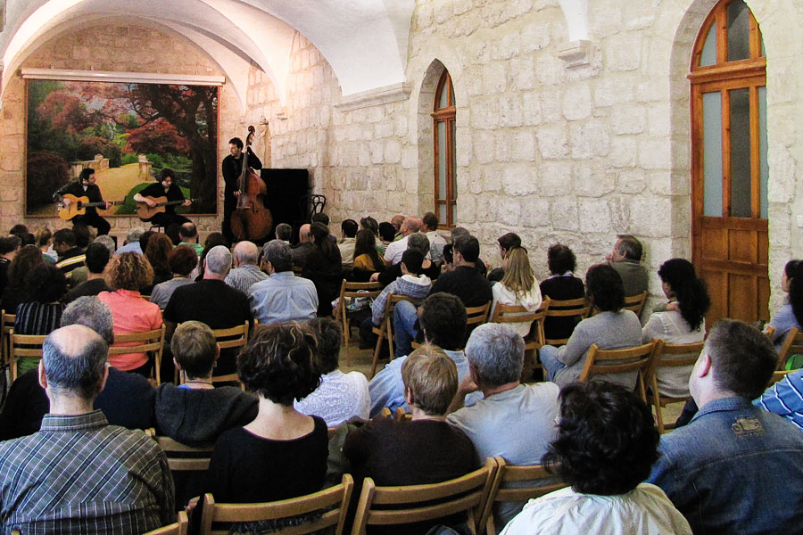
[[[454,179],[454,90],[443,70],[433,105],[435,139],[435,213],[441,226],[454,226],[457,187]]]

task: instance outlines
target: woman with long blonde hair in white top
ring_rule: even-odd
[[[507,251],[505,258],[502,259],[502,268],[505,270],[505,276],[499,283],[493,284],[492,288],[493,302],[490,317],[493,317],[493,311],[499,303],[521,306],[530,312],[541,306],[541,289],[533,268],[530,268],[530,258],[524,247],[513,247]],[[507,325],[522,336],[530,332],[530,323],[526,321]]]

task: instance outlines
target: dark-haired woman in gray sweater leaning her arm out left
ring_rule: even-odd
[[[642,324],[625,306],[625,290],[622,278],[608,264],[588,268],[585,287],[592,308],[599,313],[587,317],[575,327],[565,346],[556,348],[545,345],[539,351],[546,379],[565,386],[580,376],[592,344],[600,350],[632,348],[642,343]],[[617,383],[635,386],[636,373],[617,375]]]

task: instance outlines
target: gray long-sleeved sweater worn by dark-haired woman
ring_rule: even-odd
[[[631,310],[600,312],[581,321],[567,344],[558,350],[558,360],[568,367],[555,374],[554,382],[563,387],[580,376],[592,344],[600,350],[619,350],[642,344],[642,324]],[[613,377],[613,376],[612,376]],[[636,374],[616,375],[616,383],[635,387]]]

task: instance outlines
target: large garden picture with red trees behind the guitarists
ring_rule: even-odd
[[[176,173],[178,213],[217,212],[218,87],[28,80],[27,216],[54,216],[53,193],[95,169],[103,216],[137,212],[133,196]]]

